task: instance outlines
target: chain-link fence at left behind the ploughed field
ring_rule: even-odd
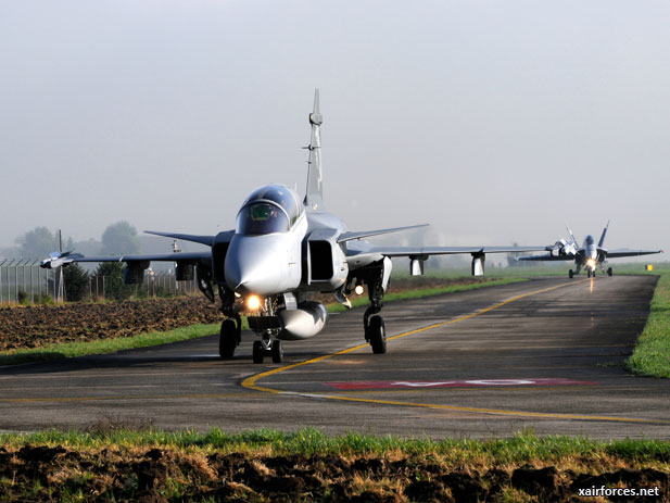
[[[0,304],[56,300],[59,275],[60,269],[43,269],[36,259],[0,259]],[[108,280],[106,276],[89,274],[88,295],[85,300],[106,299]],[[174,271],[147,269],[144,282],[132,288],[136,297],[184,295],[198,291],[195,280],[177,281]]]

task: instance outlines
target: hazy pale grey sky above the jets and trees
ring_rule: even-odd
[[[302,193],[318,87],[354,230],[545,244],[611,218],[606,246],[670,250],[668,26],[666,0],[4,1],[0,246],[215,234],[257,186]]]

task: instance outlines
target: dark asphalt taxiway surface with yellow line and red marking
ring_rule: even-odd
[[[113,355],[0,367],[0,430],[115,424],[230,431],[315,426],[401,436],[670,438],[670,380],[632,377],[625,357],[656,278],[547,278],[382,311],[387,354],[363,344],[362,310],[285,363],[233,361],[217,336]]]

